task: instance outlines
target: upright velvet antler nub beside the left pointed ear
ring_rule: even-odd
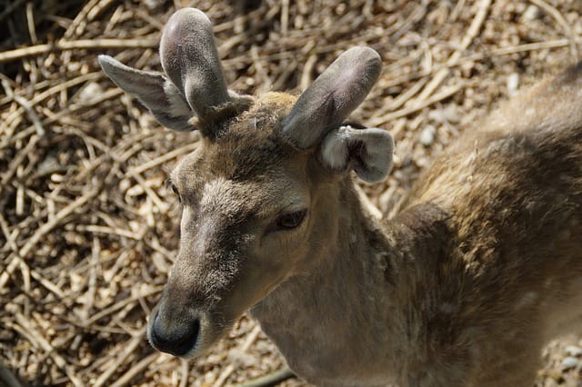
[[[202,121],[213,109],[230,102],[212,24],[196,8],[183,8],[162,33],[160,58],[164,71]]]

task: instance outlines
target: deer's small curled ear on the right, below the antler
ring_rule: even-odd
[[[367,183],[384,180],[392,169],[394,139],[378,128],[341,126],[326,135],[319,159],[337,173],[354,170]]]

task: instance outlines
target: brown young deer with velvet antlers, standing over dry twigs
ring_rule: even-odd
[[[105,55],[157,120],[199,130],[172,173],[180,249],[149,320],[156,349],[205,352],[250,309],[319,385],[531,386],[544,344],[582,323],[582,65],[463,136],[378,221],[351,171],[391,167],[386,131],[346,124],[380,74],[352,48],[298,98],[226,88],[212,27],[164,29],[165,74]]]

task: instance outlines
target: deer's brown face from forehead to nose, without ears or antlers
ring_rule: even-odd
[[[149,325],[162,351],[205,350],[306,255],[308,157],[277,138],[277,108],[285,106],[254,105],[170,177],[183,211],[180,250]]]

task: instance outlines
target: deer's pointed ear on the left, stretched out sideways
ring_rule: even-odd
[[[160,124],[180,132],[196,129],[189,123],[194,112],[165,75],[136,70],[108,55],[99,55],[97,60],[105,74],[126,93],[137,97]]]

